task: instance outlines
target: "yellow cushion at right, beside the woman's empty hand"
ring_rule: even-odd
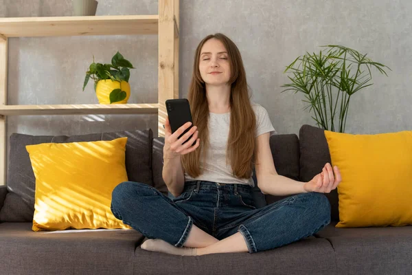
[[[342,175],[336,228],[412,224],[412,131],[325,137]]]

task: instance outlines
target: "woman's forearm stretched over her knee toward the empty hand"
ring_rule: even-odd
[[[289,179],[282,175],[264,175],[262,179],[258,178],[258,183],[260,190],[262,190],[264,194],[285,196],[306,193],[306,190],[304,189],[305,182],[295,181],[294,179]]]

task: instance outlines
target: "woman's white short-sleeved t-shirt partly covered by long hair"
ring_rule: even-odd
[[[260,104],[251,104],[256,116],[256,133],[258,137],[263,133],[274,132],[272,122],[269,118],[268,112]],[[209,148],[205,165],[203,163],[203,156],[201,155],[201,169],[203,173],[196,178],[190,177],[185,173],[186,181],[213,181],[222,184],[247,184],[252,187],[255,186],[253,178],[240,179],[235,177],[232,172],[231,164],[226,164],[226,148],[230,129],[230,113],[209,113]]]

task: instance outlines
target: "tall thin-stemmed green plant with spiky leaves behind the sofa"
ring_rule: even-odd
[[[366,54],[348,47],[341,45],[321,47],[328,47],[327,54],[322,51],[318,55],[306,52],[304,56],[299,56],[286,67],[284,73],[290,71],[293,74],[292,77],[288,76],[292,83],[282,87],[287,88],[284,91],[304,93],[306,100],[303,101],[309,103],[305,110],[308,108],[310,108],[309,112],[313,110],[312,118],[325,130],[335,131],[335,116],[339,111],[337,130],[344,133],[351,96],[356,91],[373,85],[373,83],[368,84],[372,79],[371,67],[376,67],[381,74],[387,76],[384,70],[387,66],[371,61]],[[339,109],[337,109],[338,105]]]

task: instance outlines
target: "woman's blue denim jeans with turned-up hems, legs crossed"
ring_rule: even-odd
[[[240,232],[250,253],[298,241],[330,223],[330,203],[321,193],[301,193],[257,209],[250,186],[211,181],[186,181],[179,197],[125,181],[113,190],[111,211],[149,239],[177,248],[193,224],[218,240]]]

